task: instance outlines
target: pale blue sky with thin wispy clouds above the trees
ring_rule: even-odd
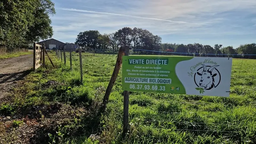
[[[143,28],[162,43],[256,43],[256,0],[52,0],[53,37],[74,43],[79,32]]]

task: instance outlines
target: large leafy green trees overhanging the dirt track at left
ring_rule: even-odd
[[[28,46],[53,35],[51,0],[0,1],[0,47]]]

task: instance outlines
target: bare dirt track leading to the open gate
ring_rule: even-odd
[[[0,60],[0,101],[33,67],[33,54]]]

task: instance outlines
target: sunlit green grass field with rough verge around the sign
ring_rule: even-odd
[[[233,60],[228,98],[130,92],[130,131],[122,140],[122,69],[112,89],[106,115],[98,114],[116,56],[96,54],[93,57],[83,53],[84,82],[80,84],[78,55],[72,57],[71,71],[69,55],[65,66],[54,54],[50,55],[58,68],[53,69],[46,60],[46,69],[39,68],[29,74],[15,89],[12,99],[0,108],[0,114],[5,116],[29,114],[30,121],[35,121],[34,126],[27,121],[18,124],[21,119],[12,120],[12,126],[0,128],[4,135],[0,143],[20,139],[17,131],[38,124],[44,127],[36,129],[30,140],[41,143],[256,143],[255,60]],[[6,122],[0,122],[0,127],[4,127],[1,124]],[[97,140],[88,138],[90,134],[96,134]]]

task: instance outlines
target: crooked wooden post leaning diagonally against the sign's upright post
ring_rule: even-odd
[[[109,99],[109,95],[110,95],[110,92],[112,90],[112,87],[114,86],[115,82],[116,82],[116,77],[118,75],[118,72],[120,70],[120,67],[122,65],[122,56],[125,55],[125,54],[128,54],[128,49],[127,49],[127,46],[124,46],[124,47],[121,47],[119,49],[119,52],[118,52],[118,55],[117,55],[117,59],[116,59],[116,65],[115,65],[115,68],[114,68],[114,71],[113,71],[113,74],[111,76],[111,79],[109,81],[109,84],[108,84],[108,87],[107,87],[107,90],[105,92],[105,95],[104,95],[104,98],[103,98],[103,101],[102,101],[102,111],[105,111],[106,109],[106,105],[108,103],[108,99]]]

